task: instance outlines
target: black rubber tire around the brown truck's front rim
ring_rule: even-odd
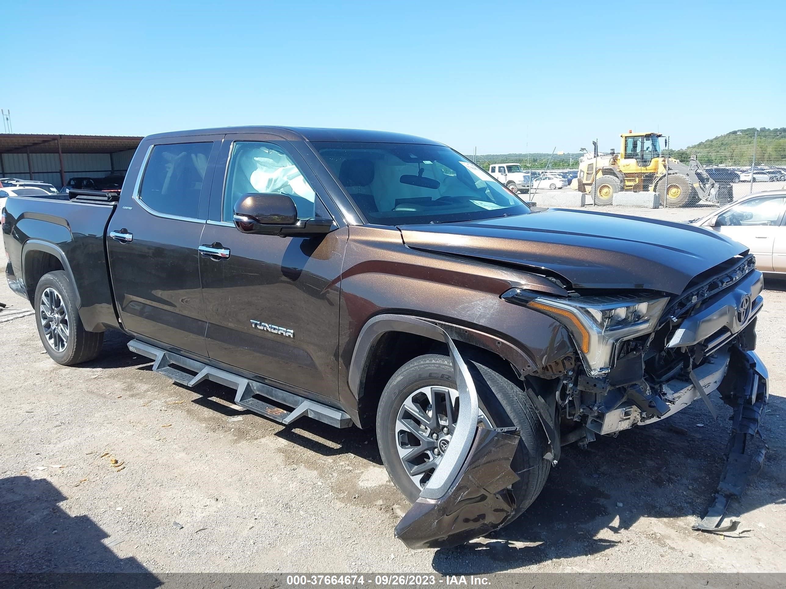
[[[549,476],[551,463],[543,459],[548,441],[536,409],[509,366],[482,354],[466,354],[465,361],[478,390],[479,408],[487,426],[516,426],[521,432],[523,443],[512,460],[512,468],[521,478],[512,485],[516,496],[513,518],[516,518],[531,505]],[[421,487],[410,477],[399,455],[399,435],[414,437],[399,426],[399,414],[413,393],[421,394],[418,391],[430,387],[455,390],[450,357],[426,354],[404,364],[387,382],[376,413],[376,439],[382,462],[391,481],[410,503],[420,495]]]

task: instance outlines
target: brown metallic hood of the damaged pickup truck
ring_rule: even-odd
[[[574,288],[680,294],[697,274],[747,252],[701,227],[589,210],[399,229],[408,247],[545,270]]]

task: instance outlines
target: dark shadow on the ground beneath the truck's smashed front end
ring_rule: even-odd
[[[625,550],[630,536],[623,540],[620,532],[642,518],[658,518],[678,534],[692,536],[693,520],[674,518],[706,513],[725,465],[731,410],[714,401],[717,422],[703,405],[693,404],[664,423],[624,431],[616,439],[599,438],[586,450],[575,444],[563,448],[542,493],[520,518],[485,539],[436,551],[433,568],[446,575],[478,574],[560,558],[604,558],[605,551]],[[786,400],[771,396],[769,411],[784,410]],[[744,521],[744,514],[786,504],[783,434],[776,434],[777,426],[768,432],[766,421],[762,429],[769,452],[764,468],[727,511],[743,516],[748,527],[751,522]],[[660,525],[641,528],[640,533],[656,542]]]

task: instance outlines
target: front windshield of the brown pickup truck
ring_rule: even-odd
[[[442,145],[313,145],[375,225],[475,221],[530,211],[493,177]]]

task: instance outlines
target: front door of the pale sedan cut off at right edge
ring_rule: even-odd
[[[756,268],[773,272],[773,248],[776,236],[783,231],[784,203],[786,196],[744,200],[719,214],[713,229],[750,248]]]

